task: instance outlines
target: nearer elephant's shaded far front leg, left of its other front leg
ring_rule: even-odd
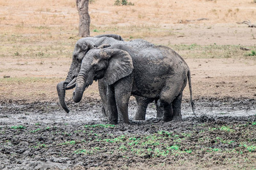
[[[107,93],[107,104],[108,104],[108,118],[109,124],[117,124],[118,123],[118,112],[117,112],[117,104],[115,103],[115,94],[113,87],[109,86]]]

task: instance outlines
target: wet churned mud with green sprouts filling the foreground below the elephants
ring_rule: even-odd
[[[182,122],[155,118],[154,104],[146,121],[134,121],[136,104],[131,100],[130,124],[112,127],[104,126],[108,122],[97,99],[68,101],[68,114],[53,102],[2,101],[0,169],[255,168],[256,100],[201,98],[195,103],[197,118],[184,100]],[[149,137],[159,145],[144,146]],[[166,144],[178,146],[179,152],[156,154]]]

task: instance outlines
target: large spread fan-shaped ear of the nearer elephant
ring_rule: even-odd
[[[104,82],[108,85],[131,74],[133,71],[133,59],[130,54],[120,49],[105,49],[103,53],[109,60],[108,68],[104,74]]]

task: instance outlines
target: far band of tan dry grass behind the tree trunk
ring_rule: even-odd
[[[134,6],[114,6],[114,1],[96,0],[89,5],[92,30],[119,33],[126,38],[166,36],[164,25],[180,20],[208,18],[207,23],[256,20],[255,3],[247,1],[132,1]],[[29,41],[56,40],[77,35],[76,3],[67,1],[1,1],[1,35],[23,35]],[[201,23],[198,21],[197,23]],[[148,30],[150,28],[150,30]],[[96,35],[97,32],[92,32]],[[39,36],[40,35],[40,36]],[[1,37],[2,39],[2,37]],[[5,41],[4,41],[5,42]]]

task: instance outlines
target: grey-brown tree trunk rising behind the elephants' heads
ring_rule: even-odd
[[[76,0],[77,11],[79,12],[79,36],[90,36],[90,15],[88,12],[89,0]]]

